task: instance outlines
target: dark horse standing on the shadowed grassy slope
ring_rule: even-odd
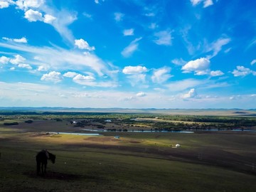
[[[48,160],[52,161],[52,163],[55,163],[56,156],[54,154],[51,154],[46,149],[43,149],[42,151],[39,151],[36,155],[36,168],[37,168],[37,174],[40,174],[40,171],[42,171],[42,174],[46,174],[46,165],[48,163]]]

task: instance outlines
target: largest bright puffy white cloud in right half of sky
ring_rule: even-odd
[[[210,60],[207,58],[199,58],[196,60],[191,60],[186,65],[181,68],[183,73],[194,72],[196,75],[206,75],[206,71],[210,66]]]

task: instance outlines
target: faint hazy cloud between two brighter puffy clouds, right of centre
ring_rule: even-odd
[[[168,80],[169,78],[173,77],[173,75],[170,75],[171,68],[159,68],[154,70],[153,75],[151,77],[152,82],[156,83],[162,83]]]

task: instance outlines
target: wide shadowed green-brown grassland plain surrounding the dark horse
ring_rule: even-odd
[[[159,115],[156,119],[156,115],[149,117],[148,114],[145,117],[116,114],[116,118],[115,114],[94,115],[97,117],[88,114],[82,117],[76,114],[2,115],[1,191],[256,191],[256,132],[232,130],[230,122],[223,120],[201,121],[210,127],[216,123],[229,124],[229,128],[219,131],[127,132],[124,129],[152,130],[156,128],[152,122],[174,123],[178,119],[171,119],[171,116],[159,119]],[[129,121],[137,116],[154,119]],[[106,119],[111,122],[105,122]],[[240,121],[247,124],[246,129],[255,130],[253,118],[249,122],[245,119],[232,121],[234,129]],[[18,124],[12,124],[14,122]],[[78,122],[84,124],[78,126]],[[175,123],[180,125],[181,122],[179,119]],[[184,125],[187,128],[189,124]],[[102,126],[105,130],[114,128],[121,132],[79,135],[87,133],[84,129],[102,130]],[[48,163],[45,176],[36,175],[36,154],[41,149],[56,155],[55,164]]]

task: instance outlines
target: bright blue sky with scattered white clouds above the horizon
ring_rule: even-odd
[[[0,0],[0,107],[256,108],[255,0]]]

